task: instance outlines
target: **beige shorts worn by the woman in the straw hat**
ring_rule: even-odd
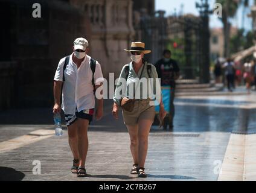
[[[141,119],[154,121],[155,115],[155,106],[150,106],[149,100],[135,100],[132,112],[123,110],[124,124],[126,125],[137,125]]]

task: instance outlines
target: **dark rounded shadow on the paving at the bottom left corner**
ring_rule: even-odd
[[[25,174],[13,168],[0,166],[0,181],[21,181]]]

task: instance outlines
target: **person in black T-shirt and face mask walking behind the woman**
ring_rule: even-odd
[[[174,118],[174,94],[175,94],[175,80],[179,78],[179,66],[177,62],[171,59],[171,51],[165,49],[163,52],[164,58],[156,63],[156,71],[158,72],[158,77],[161,78],[161,86],[170,86],[170,113],[167,120],[165,119],[164,130],[167,129],[167,123],[169,124],[169,129],[173,130],[173,118]]]

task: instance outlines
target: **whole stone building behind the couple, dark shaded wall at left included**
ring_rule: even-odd
[[[144,41],[144,34],[135,34],[136,15],[143,9],[155,15],[154,0],[37,0],[42,17],[33,18],[34,2],[0,0],[0,110],[51,107],[54,72],[76,37],[89,40],[89,55],[101,63],[104,77],[114,72],[117,78],[130,62],[123,49]]]

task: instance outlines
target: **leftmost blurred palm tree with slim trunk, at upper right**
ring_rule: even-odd
[[[220,20],[223,24],[223,35],[224,35],[224,56],[229,57],[229,40],[230,40],[230,30],[231,24],[229,18],[232,18],[237,13],[238,6],[241,0],[216,0],[216,3],[222,4],[222,17]]]

